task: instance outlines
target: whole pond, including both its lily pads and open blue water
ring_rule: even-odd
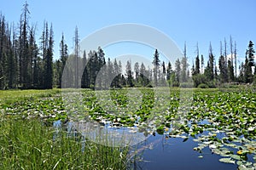
[[[66,122],[67,132],[94,143],[128,145],[131,169],[255,170],[254,91],[168,90],[67,89],[1,103],[0,109],[6,117],[40,118],[49,126]]]

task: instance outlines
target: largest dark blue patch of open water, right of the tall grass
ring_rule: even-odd
[[[154,141],[158,141],[155,143]],[[218,161],[221,156],[212,154],[212,151],[205,148],[202,154],[193,150],[197,144],[189,138],[183,142],[181,138],[168,138],[164,135],[156,134],[144,142],[145,144],[154,143],[150,149],[143,150],[143,161],[137,162],[134,169],[202,169],[215,170],[225,169],[234,170],[235,164],[223,163]],[[198,156],[203,156],[199,158]]]

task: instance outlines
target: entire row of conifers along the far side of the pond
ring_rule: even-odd
[[[206,65],[197,44],[195,60],[189,69],[185,43],[183,57],[177,59],[174,65],[170,61],[161,61],[160,53],[155,49],[152,65],[144,65],[143,62],[133,65],[128,59],[123,70],[124,63],[117,59],[106,59],[101,47],[91,49],[88,54],[86,51],[80,53],[77,27],[74,33],[74,54],[68,54],[62,34],[60,57],[54,60],[53,26],[44,21],[41,37],[36,42],[36,26],[29,24],[29,16],[27,3],[22,8],[18,26],[9,25],[4,15],[0,14],[0,89],[198,87],[201,84],[213,88],[227,82],[256,82],[252,41],[248,43],[244,62],[238,67],[236,41],[230,37],[229,49],[226,39],[224,44],[220,42],[218,59],[212,53],[210,42]]]

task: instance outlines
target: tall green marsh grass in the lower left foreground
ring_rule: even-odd
[[[45,127],[38,119],[2,118],[1,169],[126,169],[128,148],[108,147]]]

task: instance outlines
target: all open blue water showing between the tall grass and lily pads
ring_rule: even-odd
[[[207,123],[206,120],[202,121]],[[61,121],[54,122],[55,127],[61,127]],[[84,139],[92,139],[91,136],[97,136],[96,131],[94,131],[93,135],[89,133],[88,130],[91,131],[91,125],[88,126],[88,122],[67,122],[64,125],[67,129],[67,132],[80,133],[84,135]],[[94,126],[96,128],[96,125]],[[84,129],[83,129],[84,128]],[[130,128],[127,127],[109,127],[108,124],[105,126],[101,126],[102,132],[108,132],[108,135],[113,135],[113,132],[118,135],[125,134],[125,136],[131,132]],[[97,129],[97,130],[99,130]],[[105,131],[108,130],[108,131]],[[109,133],[112,132],[112,133]],[[126,132],[126,133],[124,133]],[[133,132],[134,133],[134,132]],[[216,148],[214,148],[211,144],[206,144],[200,151],[196,151],[195,148],[198,147],[198,139],[201,136],[207,135],[211,132],[203,132],[195,138],[189,137],[187,134],[181,135],[169,135],[169,133],[154,133],[148,134],[147,138],[144,138],[142,141],[137,141],[137,144],[131,145],[130,150],[130,163],[129,167],[131,169],[225,169],[225,170],[233,170],[237,169],[238,165],[236,165],[235,161],[231,162],[221,162],[220,159],[223,156],[216,154],[214,152]],[[139,133],[142,136],[144,133]],[[103,133],[102,133],[103,135]],[[134,137],[134,136],[133,136]],[[136,136],[137,137],[137,136]],[[224,138],[224,133],[219,133],[217,135],[219,139]],[[115,140],[116,136],[114,137]],[[97,142],[99,142],[97,140]],[[236,149],[230,148],[230,150],[236,152]],[[240,159],[240,158],[237,158]],[[246,162],[246,161],[245,161]],[[247,162],[253,162],[253,155],[248,155]],[[253,163],[249,166],[253,169]],[[245,168],[246,169],[246,168]],[[248,168],[249,169],[249,168]]]

